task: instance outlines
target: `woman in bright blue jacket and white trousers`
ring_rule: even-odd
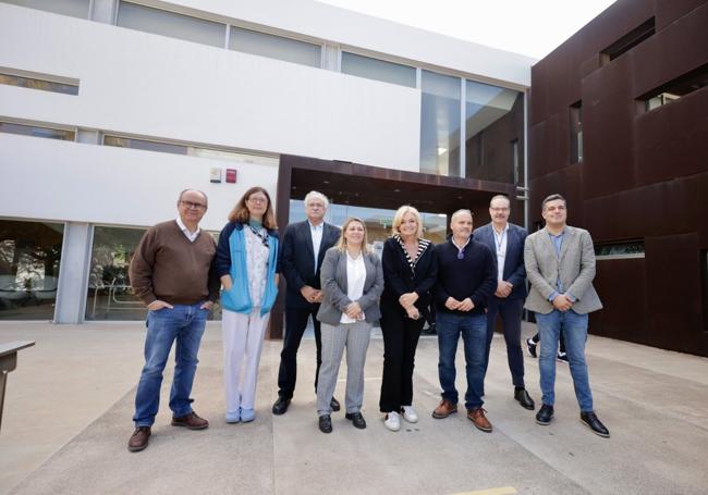
[[[253,421],[260,350],[278,295],[278,232],[270,196],[252,187],[219,235],[227,422]],[[243,367],[243,378],[242,378]]]

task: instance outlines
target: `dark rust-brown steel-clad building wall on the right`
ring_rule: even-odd
[[[644,41],[602,55],[651,20]],[[621,0],[532,69],[530,224],[561,193],[596,244],[645,244],[645,258],[598,261],[605,309],[590,333],[708,356],[708,87],[651,111],[644,101],[707,67],[706,0]],[[571,163],[578,101],[584,157]]]

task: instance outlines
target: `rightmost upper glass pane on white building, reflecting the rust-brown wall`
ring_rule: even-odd
[[[523,185],[524,96],[465,82],[465,176]]]

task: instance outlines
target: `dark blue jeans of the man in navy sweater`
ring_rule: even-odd
[[[487,317],[485,314],[451,314],[438,311],[436,315],[440,361],[438,374],[442,387],[442,398],[457,404],[455,388],[455,355],[457,341],[462,334],[465,346],[465,371],[467,374],[467,393],[465,408],[481,407],[485,387],[485,358],[487,354]]]

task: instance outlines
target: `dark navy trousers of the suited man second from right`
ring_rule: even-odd
[[[487,306],[487,356],[485,373],[489,366],[489,349],[495,336],[497,315],[501,317],[506,343],[506,360],[514,386],[524,388],[524,354],[521,350],[521,317],[524,311],[524,299],[500,299],[490,297]]]

